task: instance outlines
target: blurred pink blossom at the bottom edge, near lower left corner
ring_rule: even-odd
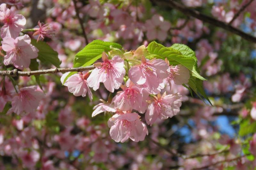
[[[22,160],[22,164],[29,169],[34,168],[39,158],[40,154],[34,150],[31,152],[28,152],[27,150],[20,152],[20,159]]]

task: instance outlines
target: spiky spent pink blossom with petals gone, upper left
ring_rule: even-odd
[[[52,26],[50,26],[49,24],[42,24],[40,23],[40,21],[38,21],[38,26],[34,28],[34,30],[36,30],[36,32],[33,34],[33,36],[38,35],[37,42],[40,39],[44,40],[45,37],[52,38],[54,34]]]

